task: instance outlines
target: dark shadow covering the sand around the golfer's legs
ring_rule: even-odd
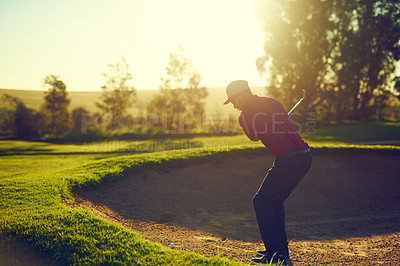
[[[252,197],[271,156],[227,157],[164,168],[84,189],[78,196],[128,220],[175,224],[241,241],[259,240]],[[400,156],[313,155],[307,176],[286,201],[290,239],[330,240],[398,232]]]

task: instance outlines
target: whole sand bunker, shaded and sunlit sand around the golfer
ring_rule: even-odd
[[[272,161],[258,152],[149,170],[79,191],[75,205],[166,246],[248,262],[262,248],[252,197]],[[399,191],[399,155],[314,154],[285,205],[295,265],[398,263]]]

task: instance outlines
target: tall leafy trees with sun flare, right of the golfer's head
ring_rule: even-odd
[[[333,113],[337,122],[350,114],[368,118],[384,91],[393,90],[400,59],[398,1],[258,4],[267,36],[258,69],[269,74],[269,93],[286,106],[305,88],[306,110]]]

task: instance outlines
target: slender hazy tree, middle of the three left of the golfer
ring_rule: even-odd
[[[123,116],[134,102],[136,89],[128,85],[133,76],[129,65],[122,57],[116,64],[110,64],[109,73],[103,73],[105,84],[101,87],[103,93],[96,105],[110,117],[110,128],[119,129],[123,125]]]

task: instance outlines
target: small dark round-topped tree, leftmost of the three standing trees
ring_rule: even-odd
[[[42,106],[44,113],[49,117],[48,132],[61,134],[69,130],[69,112],[67,86],[58,76],[50,75],[44,79],[44,86],[48,88],[45,92],[45,103]]]

